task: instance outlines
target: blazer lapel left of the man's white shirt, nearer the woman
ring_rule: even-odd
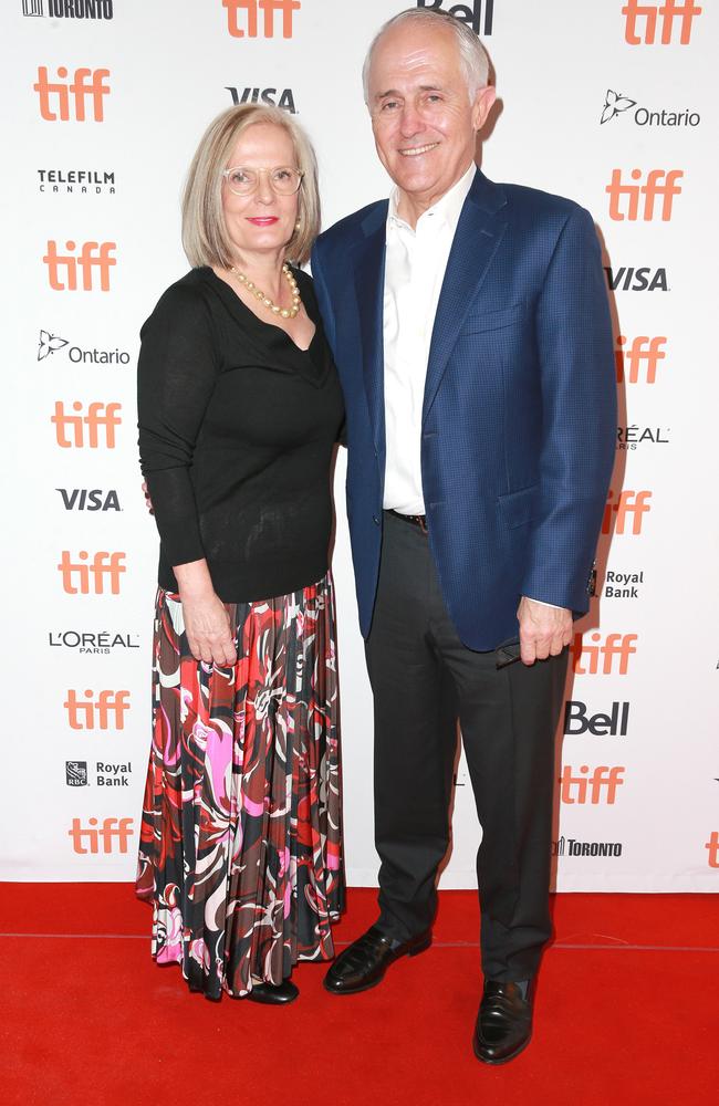
[[[362,367],[375,448],[384,452],[384,286],[385,225],[387,204],[381,204],[365,221],[365,239],[354,258],[354,279],[362,333]]]

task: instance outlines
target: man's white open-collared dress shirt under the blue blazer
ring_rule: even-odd
[[[459,215],[476,173],[463,177],[428,208],[417,227],[397,213],[389,197],[385,260],[384,344],[387,465],[385,510],[424,514],[419,452],[421,405],[439,292]]]

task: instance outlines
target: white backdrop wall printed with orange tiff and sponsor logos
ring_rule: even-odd
[[[420,3],[419,7],[423,4]],[[484,171],[594,215],[616,323],[601,596],[562,720],[556,886],[719,889],[715,0],[427,0],[497,71]],[[275,103],[324,223],[387,194],[359,71],[403,0],[4,0],[0,878],[129,879],[149,742],[156,534],[138,331],[186,271],[209,119]],[[346,855],[375,879],[372,710],[336,474]],[[562,741],[563,739],[563,741]],[[475,881],[460,764],[442,886]]]

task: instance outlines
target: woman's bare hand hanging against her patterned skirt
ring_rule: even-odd
[[[215,593],[207,561],[175,565],[185,633],[196,660],[228,667],[237,662],[230,617]]]

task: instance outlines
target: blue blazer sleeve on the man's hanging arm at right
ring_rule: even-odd
[[[574,208],[536,306],[540,480],[522,595],[583,613],[616,448],[614,343],[600,244]]]

